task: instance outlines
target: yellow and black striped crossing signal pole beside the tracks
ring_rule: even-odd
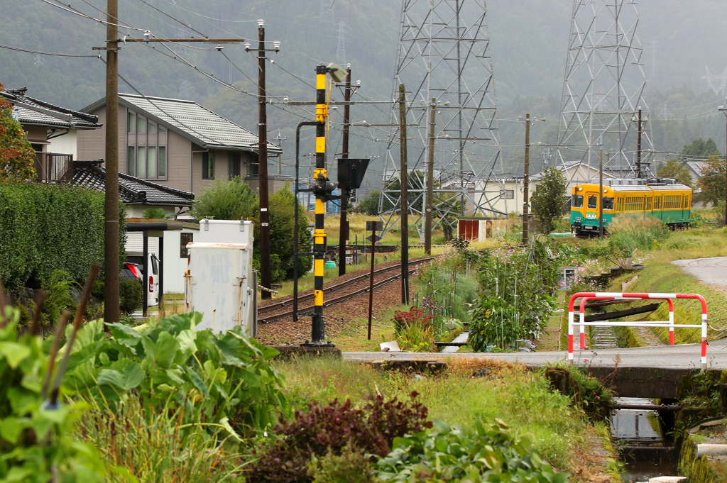
[[[328,104],[326,104],[326,73],[325,65],[316,66],[316,171],[313,179],[318,185],[326,186],[328,173],[326,172],[326,118],[328,118]],[[324,254],[326,245],[326,232],[324,230],[324,216],[326,214],[325,195],[316,193],[316,229],[313,232],[313,275],[314,304],[313,308],[313,339],[311,344],[326,344],[326,322],[323,317],[323,277]]]

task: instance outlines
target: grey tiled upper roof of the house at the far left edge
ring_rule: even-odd
[[[28,97],[25,95],[25,88],[7,89],[0,92],[0,97],[12,102],[13,115],[21,124],[61,129],[98,129],[102,126],[98,123],[96,115]]]

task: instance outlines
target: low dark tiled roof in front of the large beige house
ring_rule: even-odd
[[[103,160],[73,161],[73,184],[105,191],[106,170]],[[119,173],[119,198],[124,203],[157,206],[191,206],[194,193],[174,190],[145,179]]]

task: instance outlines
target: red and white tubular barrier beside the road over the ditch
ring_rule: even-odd
[[[669,328],[669,344],[674,345],[675,328],[702,328],[702,370],[707,369],[707,301],[698,293],[616,293],[616,292],[579,292],[574,293],[568,304],[568,360],[573,361],[574,351],[574,305],[581,299],[579,307],[579,349],[585,349],[585,326],[601,325],[611,327],[667,327]],[[589,300],[643,299],[666,300],[669,303],[669,320],[655,322],[585,322],[585,304]],[[675,324],[674,299],[695,299],[702,304],[702,324]]]

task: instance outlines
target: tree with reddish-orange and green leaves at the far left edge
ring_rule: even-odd
[[[4,91],[0,83],[0,92]],[[12,118],[12,104],[0,98],[0,179],[33,179],[36,153],[23,127]]]

